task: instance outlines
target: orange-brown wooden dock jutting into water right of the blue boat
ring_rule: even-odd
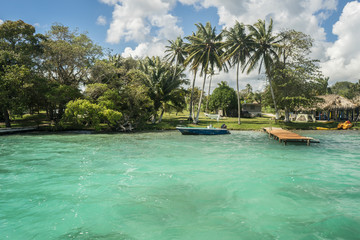
[[[310,146],[311,142],[319,143],[318,140],[315,140],[311,137],[304,137],[282,128],[264,128],[264,131],[269,134],[269,138],[272,137],[276,140],[279,140],[279,142],[283,142],[284,145],[286,145],[287,142],[306,142],[308,146]]]

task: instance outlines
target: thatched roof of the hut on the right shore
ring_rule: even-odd
[[[335,95],[335,94],[329,94],[329,95],[323,95],[318,96],[318,98],[323,99],[323,101],[318,102],[316,104],[316,109],[321,110],[349,110],[356,108],[356,105],[352,103],[349,99]]]

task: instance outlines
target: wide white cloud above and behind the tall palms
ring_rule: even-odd
[[[201,5],[204,8],[215,7],[219,15],[219,24],[230,27],[235,20],[245,24],[253,24],[258,19],[270,18],[274,21],[274,31],[295,29],[309,34],[314,40],[312,58],[325,60],[325,52],[330,45],[326,42],[322,21],[336,10],[337,0],[179,0],[183,4]],[[235,86],[236,74],[221,74],[218,77],[229,79]],[[240,85],[251,83],[254,89],[264,86],[265,80],[257,81],[257,72],[240,78]]]

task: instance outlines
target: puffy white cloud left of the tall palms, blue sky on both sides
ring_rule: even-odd
[[[182,28],[177,25],[177,17],[169,13],[176,0],[101,1],[114,5],[106,41],[113,44],[120,41],[138,43],[135,49],[126,48],[123,55],[164,55],[167,39],[175,39],[183,34]]]

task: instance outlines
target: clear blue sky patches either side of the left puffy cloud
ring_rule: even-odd
[[[151,0],[149,0],[151,1]],[[219,17],[216,8],[195,9],[192,6],[177,3],[170,12],[179,17],[179,24],[185,34],[195,31],[194,24],[210,21],[217,25]],[[87,32],[97,44],[121,53],[125,47],[135,47],[135,42],[122,41],[117,44],[106,42],[107,26],[98,25],[97,18],[105,16],[107,25],[112,18],[113,7],[98,0],[0,0],[0,19],[18,20],[36,26],[36,30],[45,33],[54,23],[61,23],[79,32]],[[221,26],[217,27],[221,30]]]

